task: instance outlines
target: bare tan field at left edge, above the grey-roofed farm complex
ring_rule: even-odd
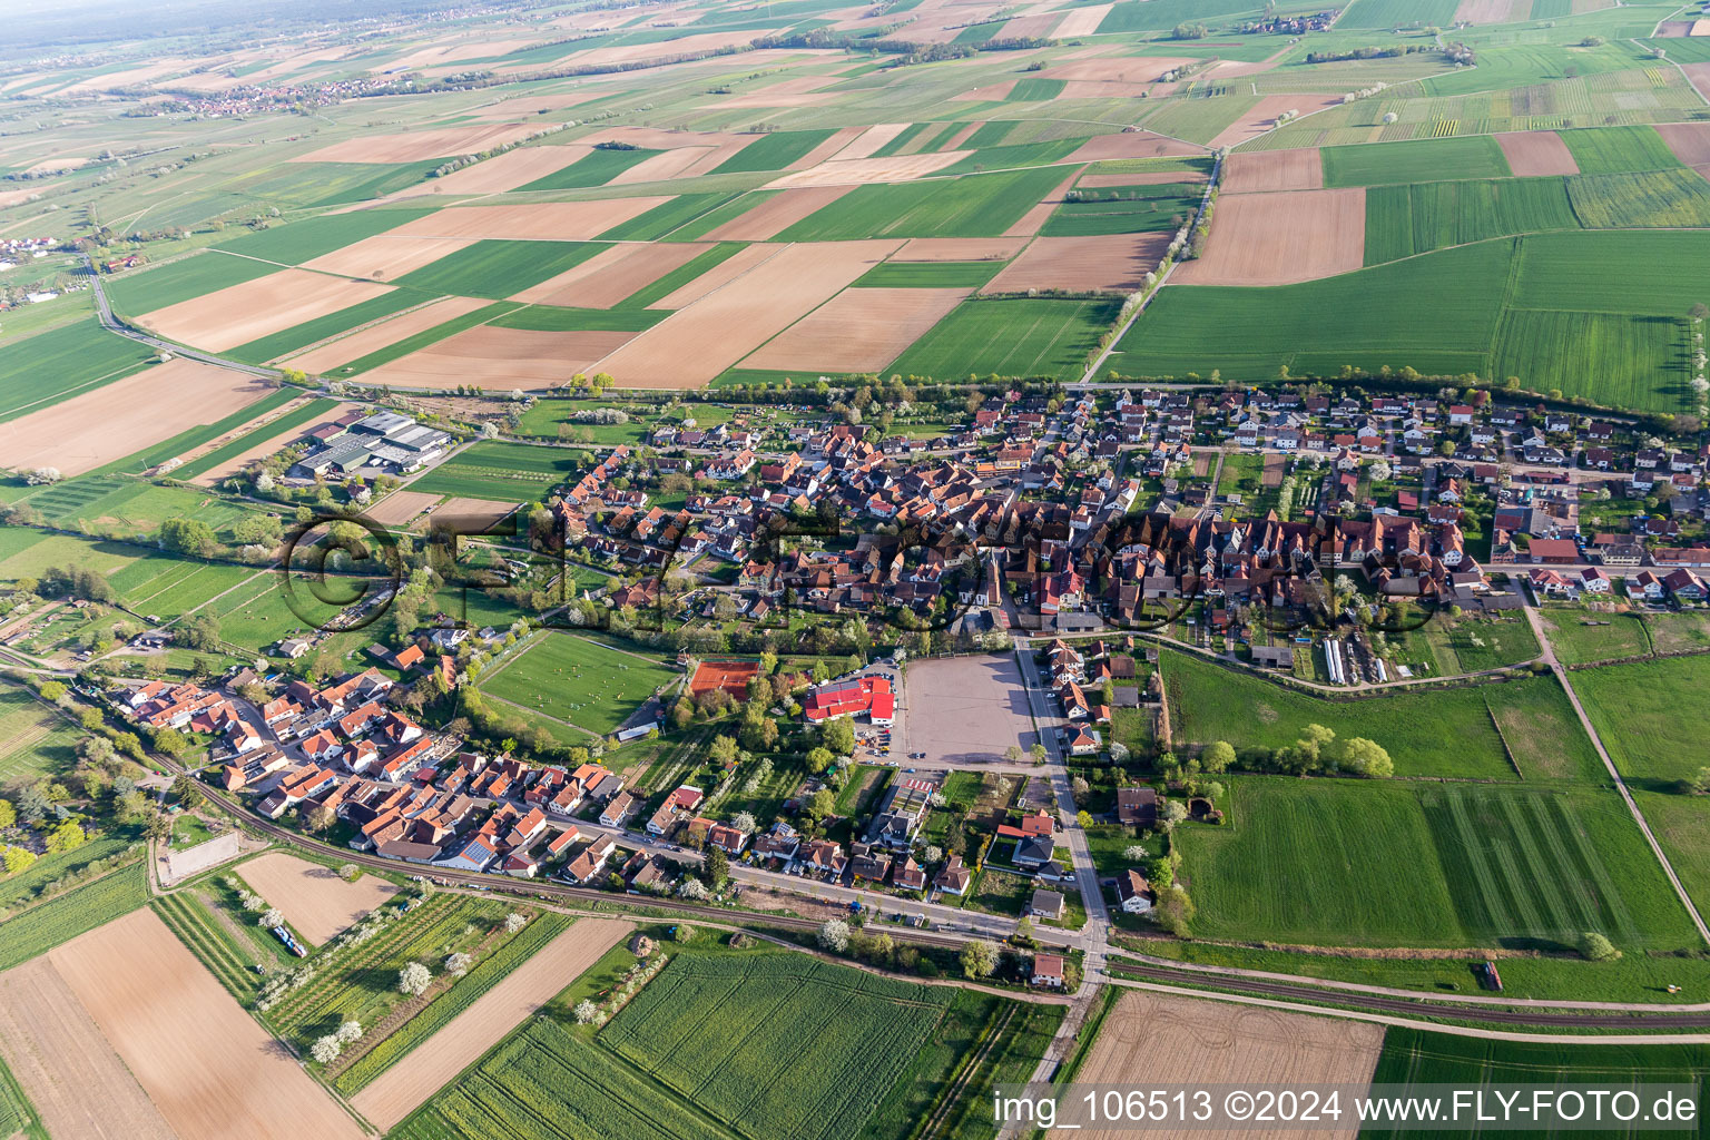
[[[168,361],[0,424],[0,465],[56,467],[62,475],[82,475],[198,424],[217,422],[272,391],[245,373]]]

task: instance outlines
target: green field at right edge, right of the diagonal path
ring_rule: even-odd
[[[1710,656],[1599,665],[1570,680],[1623,776],[1666,783],[1703,767],[1701,728],[1684,709],[1710,685]]]

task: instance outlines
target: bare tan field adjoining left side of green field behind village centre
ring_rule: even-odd
[[[744,367],[877,373],[949,316],[970,289],[845,289],[754,352]]]

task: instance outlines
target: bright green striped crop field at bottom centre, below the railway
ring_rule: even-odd
[[[799,954],[679,955],[600,1044],[740,1133],[834,1140],[858,1133],[949,998]]]

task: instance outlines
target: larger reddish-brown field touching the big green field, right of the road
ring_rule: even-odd
[[[1366,191],[1229,195],[1206,251],[1176,268],[1183,285],[1288,285],[1365,265]]]

